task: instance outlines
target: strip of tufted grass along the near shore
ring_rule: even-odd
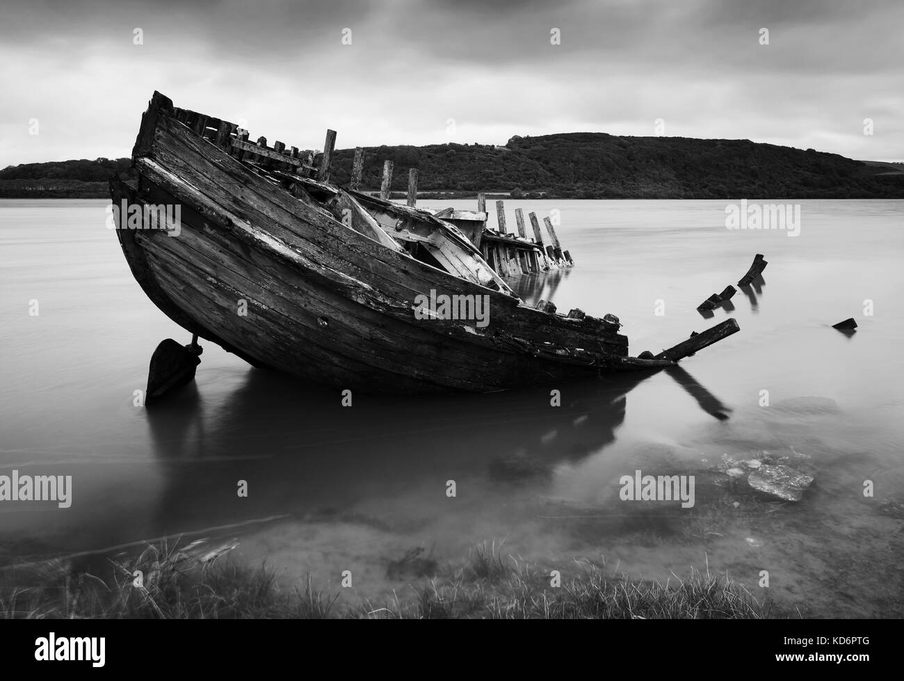
[[[607,574],[602,566],[574,563],[570,577],[554,577],[535,564],[504,555],[500,544],[476,546],[466,561],[431,579],[413,582],[406,595],[349,603],[340,593],[314,588],[310,577],[281,588],[266,565],[250,568],[202,557],[178,544],[148,545],[127,562],[109,563],[101,579],[73,574],[61,564],[24,574],[5,573],[0,617],[50,619],[759,619],[770,608],[730,579],[692,570],[667,582]],[[136,571],[142,579],[136,581]]]

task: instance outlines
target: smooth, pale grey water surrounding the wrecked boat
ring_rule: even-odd
[[[442,564],[486,540],[566,578],[575,559],[663,580],[708,563],[792,612],[904,614],[904,202],[805,201],[789,238],[726,230],[722,202],[510,201],[510,229],[516,207],[559,209],[577,263],[515,282],[525,298],[616,314],[632,355],[729,315],[740,333],[684,360],[684,373],[355,395],[351,408],[208,343],[196,383],[159,411],[135,406],[134,392],[160,340],[190,338],[132,279],[106,203],[0,201],[0,475],[73,477],[70,508],[0,503],[0,562],[234,536],[236,558],[266,559],[287,582],[310,572],[337,588],[351,570],[356,594],[373,595],[410,583],[391,563],[411,549]],[[425,202],[448,204],[473,208]],[[758,252],[765,281],[703,319],[695,307]],[[847,317],[853,336],[830,326]],[[713,417],[721,409],[728,420]],[[723,454],[761,450],[810,457],[801,503],[768,503],[714,469]],[[638,468],[694,475],[695,506],[620,501],[618,478]]]

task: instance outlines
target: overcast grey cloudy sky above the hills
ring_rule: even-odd
[[[0,85],[0,167],[127,156],[154,90],[301,148],[326,128],[338,147],[504,144],[661,118],[904,160],[904,2],[4,0]]]

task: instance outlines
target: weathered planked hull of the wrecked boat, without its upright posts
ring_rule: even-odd
[[[440,221],[428,213],[407,209],[391,228],[378,218],[387,222],[380,216],[395,214],[393,204],[329,185],[334,203],[317,203],[293,175],[279,184],[236,158],[241,143],[234,134],[221,133],[214,143],[175,111],[155,93],[133,152],[137,185],[111,180],[111,194],[117,206],[179,206],[179,229],[132,229],[120,214],[118,238],[157,307],[251,364],[339,388],[425,393],[673,364],[626,360],[617,323],[527,307],[497,279],[458,277],[394,245],[393,229],[400,238],[432,239],[421,228]],[[342,206],[360,207],[358,199],[367,203],[368,224],[356,229],[337,218]],[[381,239],[367,235],[369,216],[389,241],[383,232]],[[436,243],[425,246],[441,258]],[[463,261],[475,253],[480,259],[476,249],[462,252]],[[487,324],[418,318],[419,296],[431,292],[485,297]]]

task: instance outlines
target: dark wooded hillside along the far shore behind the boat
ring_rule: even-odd
[[[348,182],[353,149],[335,153],[332,179]],[[570,133],[513,137],[504,147],[442,144],[365,147],[363,186],[376,189],[384,160],[404,191],[419,168],[424,194],[476,192],[548,198],[904,198],[904,165],[749,140]],[[105,196],[128,159],[10,166],[0,196]],[[897,172],[896,172],[897,171]]]

